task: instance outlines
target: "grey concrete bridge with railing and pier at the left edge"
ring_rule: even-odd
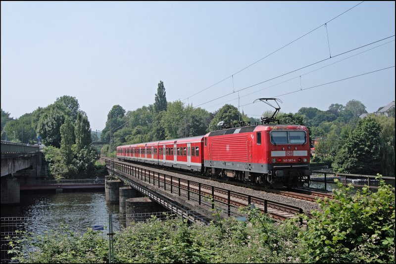
[[[1,204],[19,203],[17,177],[38,178],[41,164],[40,146],[1,140]]]

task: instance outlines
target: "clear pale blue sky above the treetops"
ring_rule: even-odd
[[[113,105],[152,104],[161,80],[168,101],[213,112],[238,107],[234,91],[331,54],[241,90],[241,112],[258,117],[272,109],[251,103],[274,96],[286,113],[352,99],[373,112],[395,100],[394,67],[310,88],[395,66],[395,37],[336,56],[395,35],[394,1],[347,11],[359,2],[1,1],[1,108],[18,118],[70,95],[102,130]]]

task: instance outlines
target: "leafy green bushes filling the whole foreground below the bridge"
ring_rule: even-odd
[[[351,194],[339,184],[337,200],[318,200],[320,210],[276,222],[258,209],[210,224],[180,218],[132,223],[114,236],[116,263],[394,263],[395,193],[380,183]],[[91,228],[77,234],[62,228],[12,240],[10,253],[21,263],[106,263],[108,242]],[[32,250],[32,247],[34,250]]]

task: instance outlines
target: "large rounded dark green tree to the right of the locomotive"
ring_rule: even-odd
[[[335,157],[334,169],[350,174],[373,175],[380,171],[381,127],[373,118],[360,120]]]

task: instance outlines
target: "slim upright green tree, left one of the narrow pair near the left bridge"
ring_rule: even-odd
[[[65,122],[60,126],[60,136],[61,157],[66,167],[70,168],[74,159],[73,145],[75,142],[74,126],[71,117],[66,117]]]

